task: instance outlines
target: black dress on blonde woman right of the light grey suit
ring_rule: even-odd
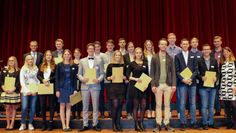
[[[123,67],[123,75],[125,75],[124,64],[109,64],[107,66],[106,78],[112,76],[113,67]],[[115,76],[115,75],[114,75]],[[123,83],[108,83],[109,89],[107,89],[107,97],[109,99],[124,99],[125,98],[125,84]]]

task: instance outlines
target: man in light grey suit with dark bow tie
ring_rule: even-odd
[[[94,44],[89,43],[87,45],[88,56],[81,59],[78,77],[82,82],[81,92],[82,92],[82,102],[83,102],[83,128],[80,131],[85,131],[89,129],[88,123],[88,110],[89,110],[89,101],[90,96],[92,98],[93,105],[93,129],[96,131],[101,131],[101,127],[98,123],[98,112],[99,112],[99,94],[101,90],[100,82],[104,78],[104,67],[99,58],[94,57]],[[85,77],[86,71],[89,69],[96,70],[96,79],[89,79]],[[89,80],[92,80],[93,83],[87,84]]]

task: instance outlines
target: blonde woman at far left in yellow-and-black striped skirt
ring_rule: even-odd
[[[15,56],[8,58],[7,66],[1,72],[0,85],[2,87],[2,94],[0,97],[0,103],[3,103],[6,108],[6,130],[12,130],[14,128],[16,109],[20,103],[20,81],[17,59]],[[15,85],[10,90],[4,86],[5,78],[15,78]]]

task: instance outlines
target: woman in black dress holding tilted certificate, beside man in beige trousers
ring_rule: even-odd
[[[131,74],[132,73],[132,74]],[[130,63],[126,71],[126,77],[129,78],[129,97],[133,101],[133,118],[136,131],[144,131],[143,118],[146,109],[147,90],[140,91],[135,87],[136,82],[142,82],[140,76],[142,73],[148,75],[148,64],[144,62],[142,48],[135,48],[134,61]],[[138,120],[138,110],[140,107],[140,119]]]

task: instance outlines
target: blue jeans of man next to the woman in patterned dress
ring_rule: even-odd
[[[201,101],[202,101],[202,124],[207,125],[207,120],[209,118],[209,125],[214,124],[214,104],[215,104],[215,96],[216,89],[214,88],[201,88],[199,90]],[[207,115],[208,109],[208,115]]]

